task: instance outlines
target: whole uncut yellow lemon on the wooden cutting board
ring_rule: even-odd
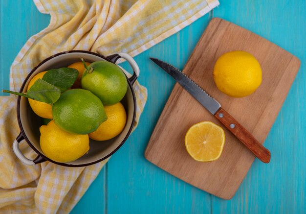
[[[247,96],[262,83],[262,69],[257,59],[245,51],[231,51],[221,55],[214,67],[218,89],[233,97]]]

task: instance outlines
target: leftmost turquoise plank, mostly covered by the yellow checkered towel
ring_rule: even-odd
[[[8,89],[9,68],[14,58],[29,37],[49,24],[50,16],[41,14],[33,1],[16,3],[0,0],[0,10],[0,89]],[[106,173],[106,170],[102,169],[71,214],[104,211],[106,201],[103,195]]]

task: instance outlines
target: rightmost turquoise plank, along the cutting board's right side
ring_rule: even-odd
[[[213,196],[214,213],[285,214],[306,211],[306,2],[220,1],[215,17],[251,30],[296,55],[301,68],[264,143],[271,162],[256,160],[236,195]]]

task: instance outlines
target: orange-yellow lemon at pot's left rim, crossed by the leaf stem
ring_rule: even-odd
[[[47,71],[36,74],[29,82],[27,90],[29,90],[32,87],[32,85],[36,82],[36,80],[42,79],[46,72]],[[42,118],[52,119],[52,106],[50,104],[30,98],[28,98],[28,101],[35,114],[37,114]]]

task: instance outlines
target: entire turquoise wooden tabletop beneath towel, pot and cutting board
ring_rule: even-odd
[[[0,0],[0,89],[9,86],[9,67],[25,41],[47,26],[32,1]],[[22,3],[21,3],[22,2]],[[268,165],[256,160],[232,200],[198,190],[153,166],[144,150],[174,80],[149,61],[182,69],[212,17],[249,29],[300,58],[300,71],[265,146]],[[306,2],[220,0],[220,6],[160,44],[135,57],[148,102],[139,127],[99,173],[72,210],[83,213],[306,213]],[[264,53],[262,53],[264,54]],[[128,68],[127,64],[123,64]],[[0,94],[2,95],[2,94]]]

